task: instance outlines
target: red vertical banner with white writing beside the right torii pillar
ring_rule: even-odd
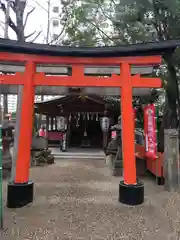
[[[144,108],[144,134],[146,157],[156,159],[157,139],[156,139],[156,109],[154,104],[149,104]]]

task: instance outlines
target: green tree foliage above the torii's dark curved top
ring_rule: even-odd
[[[63,1],[68,45],[117,45],[180,37],[180,0]],[[67,16],[67,14],[65,14]]]

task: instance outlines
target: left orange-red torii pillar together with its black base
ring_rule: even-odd
[[[15,181],[8,184],[7,207],[18,208],[33,201],[33,183],[29,181],[33,132],[34,84],[36,65],[26,64]]]

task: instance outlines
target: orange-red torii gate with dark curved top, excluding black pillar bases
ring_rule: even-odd
[[[167,52],[173,52],[180,41],[164,41],[119,47],[71,48],[42,44],[18,43],[0,39],[0,61],[26,62],[24,73],[0,75],[1,84],[24,85],[21,110],[21,129],[16,165],[16,183],[24,183],[29,178],[30,146],[33,121],[33,101],[35,86],[69,87],[119,87],[121,88],[122,141],[124,160],[124,182],[136,184],[134,156],[134,122],[132,109],[132,88],[159,88],[158,78],[142,78],[139,74],[131,76],[130,65],[160,64]],[[71,76],[46,76],[36,73],[36,64],[70,64]],[[85,76],[84,66],[119,65],[121,75],[111,77]]]

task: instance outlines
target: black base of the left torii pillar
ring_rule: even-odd
[[[7,207],[21,208],[33,202],[34,183],[9,183],[7,189]]]

